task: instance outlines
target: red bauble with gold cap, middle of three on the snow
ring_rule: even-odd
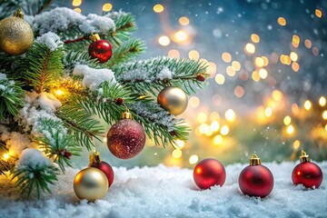
[[[272,192],[272,172],[261,164],[256,154],[251,156],[250,165],[240,173],[239,186],[242,193],[249,196],[265,197]]]

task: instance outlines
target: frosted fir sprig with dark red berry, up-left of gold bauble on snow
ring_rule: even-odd
[[[67,134],[63,123],[59,120],[42,118],[38,126],[38,131],[43,137],[38,137],[40,147],[45,150],[46,156],[54,158],[54,163],[58,163],[64,172],[64,164],[72,166],[69,154],[80,155],[81,147],[76,143],[74,135]]]

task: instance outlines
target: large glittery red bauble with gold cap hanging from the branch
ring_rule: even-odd
[[[107,134],[107,145],[114,156],[130,159],[144,149],[145,132],[141,124],[132,120],[130,113],[114,124]]]

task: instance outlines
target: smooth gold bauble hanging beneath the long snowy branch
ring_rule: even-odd
[[[187,107],[187,95],[181,88],[168,86],[158,94],[157,102],[170,114],[179,115]]]

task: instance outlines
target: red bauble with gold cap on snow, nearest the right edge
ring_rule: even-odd
[[[310,162],[309,155],[302,151],[300,162],[292,171],[292,182],[303,184],[307,188],[319,188],[322,183],[322,169]]]

